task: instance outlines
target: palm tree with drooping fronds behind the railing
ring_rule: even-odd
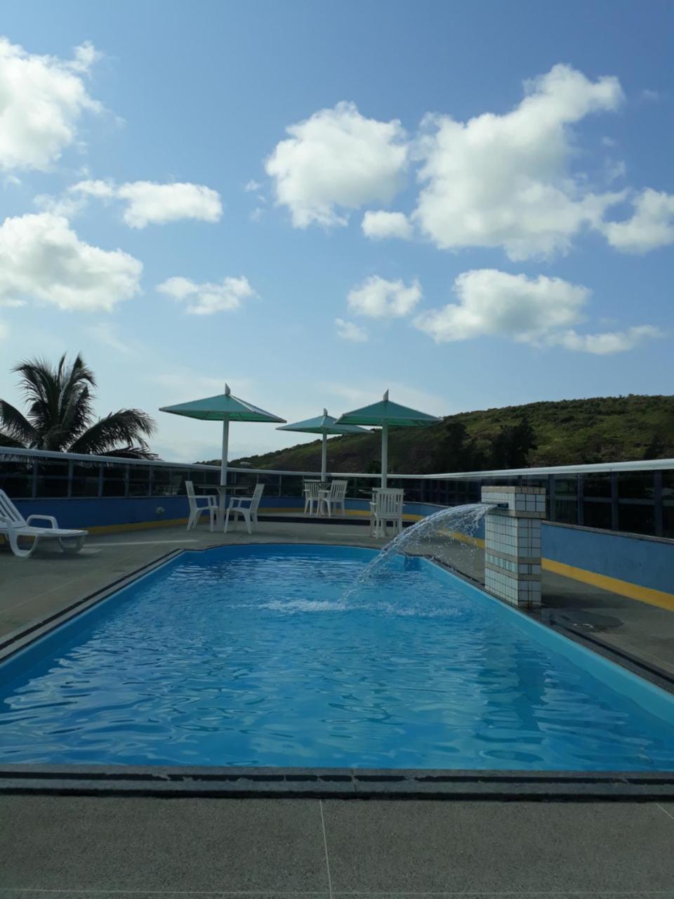
[[[64,353],[56,368],[46,360],[35,359],[21,362],[13,371],[21,376],[28,410],[23,415],[0,399],[0,445],[156,458],[144,439],[155,433],[155,421],[145,412],[120,409],[95,421],[96,379],[79,353],[70,365]]]

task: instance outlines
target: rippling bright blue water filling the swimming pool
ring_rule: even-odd
[[[0,761],[674,769],[674,697],[373,555],[184,553],[4,664]]]

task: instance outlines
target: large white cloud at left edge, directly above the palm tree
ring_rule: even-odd
[[[121,250],[85,244],[49,212],[5,218],[0,298],[38,299],[61,309],[111,309],[139,290],[143,264]]]

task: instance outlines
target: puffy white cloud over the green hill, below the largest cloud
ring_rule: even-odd
[[[418,316],[414,324],[436,343],[507,334],[534,341],[576,323],[590,290],[561,278],[528,278],[495,269],[465,271],[454,282],[457,303]]]

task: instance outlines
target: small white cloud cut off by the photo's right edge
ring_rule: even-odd
[[[634,214],[624,222],[606,222],[607,241],[622,253],[648,253],[674,244],[674,194],[647,188],[634,200]]]

